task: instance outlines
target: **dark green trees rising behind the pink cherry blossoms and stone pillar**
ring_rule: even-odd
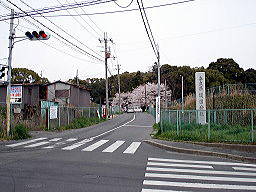
[[[166,80],[167,87],[172,91],[172,100],[181,98],[181,76],[184,77],[184,95],[195,92],[195,72],[206,73],[206,88],[222,86],[230,83],[256,82],[256,70],[243,68],[233,59],[220,58],[209,64],[208,68],[190,66],[161,66],[161,83]],[[118,93],[117,75],[109,77],[109,95],[114,97]],[[154,64],[148,72],[124,72],[120,74],[121,92],[131,92],[145,83],[157,83],[157,65]],[[70,80],[76,83],[76,78]],[[91,90],[92,101],[98,104],[105,99],[105,79],[89,78],[79,80],[79,84]]]

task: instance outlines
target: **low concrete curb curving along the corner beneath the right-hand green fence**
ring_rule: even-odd
[[[256,158],[251,158],[251,157],[231,155],[228,153],[218,153],[218,152],[210,152],[210,151],[203,151],[203,150],[194,150],[194,149],[173,147],[173,146],[157,143],[155,141],[150,141],[150,140],[144,140],[143,142],[153,145],[155,147],[159,147],[161,149],[165,149],[167,151],[174,151],[174,152],[178,152],[178,153],[188,153],[188,154],[193,154],[193,155],[216,156],[216,157],[222,157],[222,158],[232,159],[232,160],[237,160],[237,161],[256,163]]]

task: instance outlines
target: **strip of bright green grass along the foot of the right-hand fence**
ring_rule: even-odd
[[[172,141],[252,143],[252,131],[249,126],[241,125],[211,125],[208,139],[208,125],[186,124],[177,125],[163,123],[164,132],[156,134],[155,138]]]

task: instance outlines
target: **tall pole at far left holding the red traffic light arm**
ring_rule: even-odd
[[[14,10],[11,10],[11,19],[10,19],[10,34],[9,34],[9,57],[8,57],[8,76],[7,76],[7,91],[6,91],[6,133],[7,136],[10,135],[11,127],[11,77],[12,77],[12,49],[14,41],[14,31],[13,31],[13,20],[14,20]]]

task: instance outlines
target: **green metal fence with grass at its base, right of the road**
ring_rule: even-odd
[[[154,115],[154,109],[149,112]],[[206,123],[198,123],[204,112]],[[161,133],[177,140],[255,142],[256,109],[161,110]]]

